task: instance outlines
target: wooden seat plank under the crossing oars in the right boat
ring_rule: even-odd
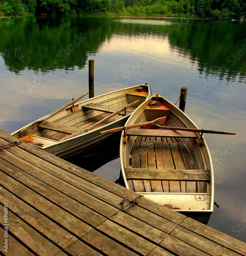
[[[197,138],[194,132],[170,131],[170,130],[151,130],[151,129],[129,129],[127,135],[130,136],[164,136],[177,138]]]

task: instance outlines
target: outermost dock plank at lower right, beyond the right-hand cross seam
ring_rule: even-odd
[[[181,225],[182,227],[199,234],[200,236],[214,241],[215,243],[229,248],[241,255],[246,255],[246,244],[224,234],[216,229],[209,226],[203,225],[198,221],[186,218]]]

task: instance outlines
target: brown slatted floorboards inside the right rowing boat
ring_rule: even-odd
[[[197,169],[194,160],[180,138],[137,136],[131,152],[132,168]],[[199,193],[197,181],[131,180],[136,192]]]

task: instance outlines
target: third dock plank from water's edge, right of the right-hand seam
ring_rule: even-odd
[[[179,239],[173,237],[173,236],[168,236],[165,238],[161,243],[160,246],[163,248],[171,251],[175,255],[179,256],[208,256],[209,254],[200,251],[193,246],[190,246]]]

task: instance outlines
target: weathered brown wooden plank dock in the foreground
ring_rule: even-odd
[[[0,145],[14,141],[0,131]],[[27,143],[0,154],[0,181],[6,255],[246,255],[245,243],[146,198],[121,211],[138,194]]]

